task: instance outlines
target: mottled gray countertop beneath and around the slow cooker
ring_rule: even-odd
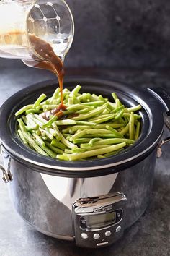
[[[88,69],[83,72],[79,69],[68,70],[66,75],[83,73],[88,74]],[[99,73],[94,69],[93,74]],[[166,71],[112,70],[110,72],[105,70],[104,76],[128,82],[130,86],[147,88],[161,85],[166,90],[170,90],[170,75]],[[0,105],[10,95],[33,81],[40,82],[51,78],[54,77],[49,72],[29,69],[22,65],[15,69],[1,67]],[[169,132],[165,128],[164,137],[167,135]],[[110,247],[97,250],[78,248],[73,242],[53,239],[35,231],[14,210],[9,199],[8,185],[0,179],[0,256],[170,255],[170,150],[168,144],[164,146],[163,151],[163,155],[156,162],[151,203],[146,213],[125,231],[120,241]]]

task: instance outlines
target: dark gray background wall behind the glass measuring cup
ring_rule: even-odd
[[[169,0],[66,0],[75,20],[67,67],[170,66]],[[1,65],[22,65],[0,59]]]

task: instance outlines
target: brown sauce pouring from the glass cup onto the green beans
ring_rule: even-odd
[[[8,33],[8,38],[6,38],[6,44],[18,44],[22,40],[25,34],[22,31],[14,31]],[[51,114],[58,115],[58,118],[62,116],[63,111],[66,110],[66,106],[63,105],[63,61],[55,55],[53,48],[49,43],[45,42],[38,38],[34,34],[29,34],[29,40],[35,54],[32,55],[32,60],[23,60],[27,66],[37,67],[40,69],[47,69],[50,72],[53,72],[58,77],[58,82],[61,90],[61,104],[59,104],[58,108],[55,108],[53,111],[47,111],[44,113],[44,118],[49,119]],[[0,37],[1,38],[1,37]],[[19,40],[20,39],[20,40]],[[38,56],[38,59],[35,58]]]

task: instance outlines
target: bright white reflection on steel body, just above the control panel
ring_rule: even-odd
[[[72,179],[41,174],[49,192],[70,210],[73,202],[79,198],[107,195],[112,188],[117,174],[97,178]]]

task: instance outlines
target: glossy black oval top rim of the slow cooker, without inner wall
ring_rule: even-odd
[[[14,114],[14,106],[9,106],[9,103],[12,104],[13,101],[21,98],[21,95],[29,96],[31,92],[36,92],[37,90],[40,92],[40,89],[44,92],[46,90],[45,88],[52,88],[52,86],[56,85],[55,80],[48,80],[45,82],[39,82],[35,85],[31,85],[27,88],[24,88],[20,90],[19,92],[12,95],[11,98],[9,98],[3,106],[1,106],[0,109],[0,121],[2,127],[0,130],[0,138],[2,141],[2,144],[4,145],[4,148],[7,150],[9,155],[12,155],[17,161],[20,161],[21,163],[26,164],[27,166],[31,166],[37,171],[42,171],[45,173],[50,174],[58,174],[58,175],[79,175],[83,174],[84,172],[87,172],[89,176],[89,171],[94,172],[94,174],[91,173],[91,175],[102,175],[109,174],[110,171],[112,173],[117,172],[117,170],[121,170],[122,168],[125,168],[125,166],[130,166],[135,164],[137,161],[141,161],[141,159],[145,158],[148,154],[151,153],[151,151],[156,148],[156,145],[158,145],[158,142],[161,138],[163,129],[164,129],[164,119],[163,119],[163,110],[160,103],[154,98],[151,93],[148,92],[148,90],[134,90],[132,88],[128,88],[125,83],[122,85],[120,82],[115,81],[109,81],[109,80],[98,80],[94,78],[87,78],[87,77],[70,77],[65,80],[65,85],[67,86],[68,83],[73,84],[73,86],[76,85],[76,83],[79,82],[80,84],[93,84],[95,85],[105,85],[108,87],[113,88],[113,90],[118,90],[119,92],[124,93],[126,92],[126,95],[128,95],[129,98],[132,97],[135,101],[142,103],[143,108],[145,108],[145,111],[148,112],[148,115],[150,115],[149,124],[151,126],[152,124],[152,130],[149,131],[148,135],[146,136],[144,142],[140,144],[136,143],[135,147],[131,147],[130,150],[127,150],[126,153],[122,153],[119,155],[115,155],[110,158],[104,158],[104,159],[97,159],[94,161],[56,161],[52,158],[43,157],[42,155],[39,155],[35,153],[34,151],[26,148],[22,142],[22,147],[19,148],[19,139],[18,137],[10,137],[8,133],[8,128],[6,127],[6,124],[4,124],[3,119],[5,119],[5,115],[7,114],[6,111],[10,114],[8,116],[8,124],[10,124],[10,120],[12,118],[12,113]],[[127,93],[128,90],[128,93]],[[40,92],[42,93],[42,92]],[[152,97],[152,104],[154,106],[154,111],[156,111],[157,114],[153,116],[153,106],[151,106],[150,103],[146,104],[146,100],[143,98],[150,98]],[[13,104],[12,104],[13,105]],[[161,108],[160,108],[161,106]],[[16,111],[16,110],[15,110]],[[148,127],[149,128],[149,127]],[[16,136],[16,135],[15,135]],[[148,141],[147,141],[148,140]],[[151,140],[151,142],[149,142]],[[144,145],[145,144],[145,145]],[[127,157],[125,157],[125,154]],[[130,155],[131,154],[131,155]],[[41,159],[41,161],[40,161]],[[42,161],[43,160],[43,161]],[[114,160],[114,161],[113,161]],[[59,164],[58,164],[59,163]],[[122,168],[121,168],[122,166]],[[106,170],[106,171],[104,171]]]

